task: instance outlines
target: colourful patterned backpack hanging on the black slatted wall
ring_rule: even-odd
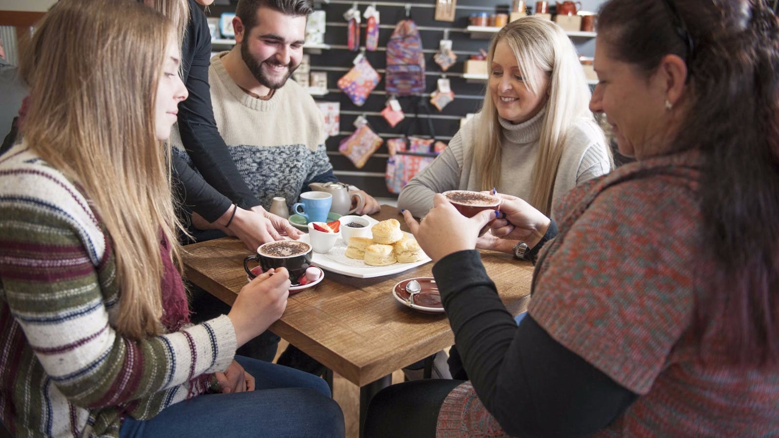
[[[417,24],[402,19],[387,43],[387,94],[409,96],[425,92],[425,54]]]

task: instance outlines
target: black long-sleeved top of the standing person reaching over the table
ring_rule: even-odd
[[[178,154],[172,154],[171,159],[176,188],[185,205],[213,222],[233,202],[243,208],[260,203],[238,173],[213,118],[208,84],[211,34],[206,15],[195,0],[189,0],[189,13],[189,26],[182,41],[182,73],[189,97],[178,107],[178,129],[200,174]]]

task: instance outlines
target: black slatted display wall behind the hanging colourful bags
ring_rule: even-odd
[[[583,9],[595,11],[602,0],[584,0]],[[237,2],[230,0],[229,5],[212,5],[209,16],[219,16],[221,12],[234,12]],[[311,57],[311,71],[327,72],[327,83],[329,93],[322,97],[315,97],[316,101],[334,101],[340,102],[340,132],[338,136],[330,137],[327,140],[327,151],[333,168],[340,181],[357,185],[365,189],[372,196],[395,197],[387,192],[384,185],[384,171],[386,168],[386,159],[388,157],[386,143],[382,144],[366,162],[361,169],[354,167],[354,164],[338,152],[340,140],[354,132],[354,120],[359,115],[365,115],[372,129],[377,132],[384,140],[400,136],[409,129],[411,124],[411,133],[427,135],[427,122],[414,118],[414,107],[418,97],[400,97],[400,104],[403,106],[406,118],[394,128],[379,115],[379,111],[385,107],[388,98],[384,91],[384,68],[386,65],[386,43],[393,33],[395,24],[406,17],[406,6],[411,5],[411,19],[417,23],[420,30],[422,46],[425,50],[426,63],[426,84],[427,90],[423,95],[425,101],[429,101],[430,93],[437,87],[437,79],[442,75],[449,78],[452,90],[455,94],[455,100],[449,103],[443,111],[438,111],[432,104],[429,104],[432,123],[435,129],[435,135],[438,140],[448,142],[460,127],[460,118],[467,113],[474,113],[481,108],[482,97],[485,91],[486,83],[469,83],[463,78],[464,61],[478,53],[480,48],[487,49],[489,40],[474,39],[466,30],[468,17],[475,12],[507,12],[509,10],[509,0],[457,0],[456,18],[454,22],[435,21],[435,2],[434,0],[414,0],[412,2],[356,2],[361,13],[365,12],[368,5],[375,5],[381,14],[379,48],[377,51],[367,51],[365,56],[374,69],[377,69],[382,76],[382,81],[375,88],[374,92],[368,97],[361,107],[351,103],[349,97],[342,93],[337,87],[337,81],[340,76],[351,69],[352,61],[358,52],[347,50],[347,22],[344,19],[344,12],[350,9],[354,2],[346,0],[331,0],[330,3],[315,4],[316,9],[323,9],[327,14],[327,30],[325,34],[325,44],[330,45],[330,49],[308,50]],[[533,6],[534,2],[527,2]],[[362,31],[360,36],[361,43],[365,44],[365,19],[362,19]],[[448,34],[453,41],[453,51],[457,55],[457,62],[451,66],[447,72],[442,72],[439,65],[433,62],[433,55],[439,48],[439,41]],[[592,56],[594,52],[594,41],[592,38],[574,37],[574,44],[581,55]],[[226,46],[214,44],[214,50],[227,50]],[[427,115],[420,115],[421,118]]]

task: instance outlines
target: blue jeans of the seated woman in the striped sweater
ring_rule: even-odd
[[[125,419],[120,438],[170,436],[344,436],[344,413],[317,376],[235,356],[255,390],[206,394],[165,408],[153,419]]]

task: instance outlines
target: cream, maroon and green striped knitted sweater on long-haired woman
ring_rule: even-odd
[[[233,359],[227,316],[133,342],[114,330],[120,298],[90,201],[24,143],[0,157],[0,415],[12,433],[118,436],[122,418],[202,392],[189,380]]]

